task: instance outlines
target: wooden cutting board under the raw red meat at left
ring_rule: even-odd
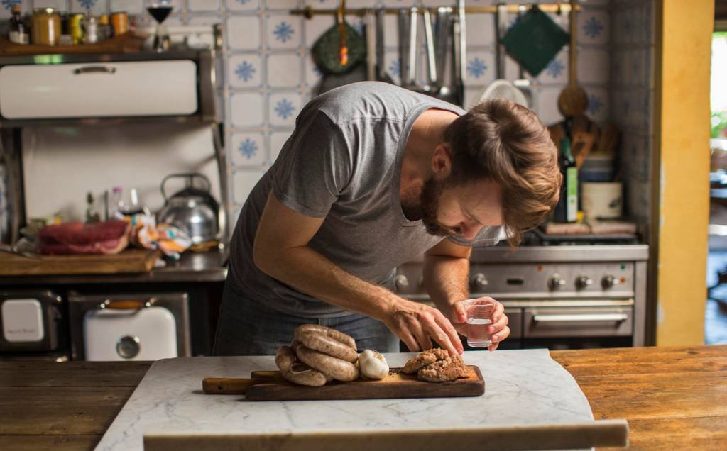
[[[126,249],[116,255],[44,255],[38,259],[0,253],[0,276],[150,272],[159,256],[159,251],[147,249]]]

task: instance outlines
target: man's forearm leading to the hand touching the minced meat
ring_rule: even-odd
[[[390,290],[344,271],[307,246],[286,249],[260,269],[314,298],[379,320],[398,299]]]

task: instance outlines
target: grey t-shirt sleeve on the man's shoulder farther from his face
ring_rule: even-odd
[[[273,171],[273,194],[300,214],[328,214],[351,175],[350,149],[340,127],[320,111],[299,118]]]

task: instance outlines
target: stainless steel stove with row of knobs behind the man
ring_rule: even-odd
[[[643,346],[648,245],[619,241],[475,248],[470,294],[505,305],[512,333],[501,347]],[[431,303],[422,261],[399,267],[395,282],[401,296]]]

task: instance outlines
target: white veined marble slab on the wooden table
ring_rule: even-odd
[[[387,354],[402,366],[412,354]],[[207,376],[249,377],[273,357],[193,357],[155,362],[97,450],[140,450],[144,434],[333,434],[593,423],[574,378],[545,349],[465,352],[486,381],[481,397],[252,402],[206,395]]]

